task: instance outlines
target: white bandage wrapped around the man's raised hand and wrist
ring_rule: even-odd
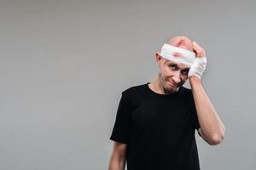
[[[206,70],[207,58],[196,57],[194,64],[189,69],[189,77],[195,76],[201,79],[202,73]]]

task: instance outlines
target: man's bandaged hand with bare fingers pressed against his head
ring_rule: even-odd
[[[201,79],[202,74],[207,67],[206,53],[196,42],[193,42],[193,49],[195,50],[196,57],[193,65],[189,69],[189,77],[195,76]]]

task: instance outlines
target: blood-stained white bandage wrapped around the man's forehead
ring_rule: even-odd
[[[189,65],[189,67],[191,67],[195,61],[195,53],[187,49],[177,48],[167,43],[165,43],[161,48],[160,55],[165,59],[168,59],[177,63],[182,63],[184,65]],[[175,56],[175,55],[180,55],[180,56]]]

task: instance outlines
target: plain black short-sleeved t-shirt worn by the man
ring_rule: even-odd
[[[110,137],[127,144],[127,169],[199,170],[191,89],[157,94],[148,83],[122,92]]]

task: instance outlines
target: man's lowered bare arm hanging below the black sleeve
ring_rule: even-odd
[[[125,170],[127,144],[113,142],[113,152],[110,157],[108,170]]]

